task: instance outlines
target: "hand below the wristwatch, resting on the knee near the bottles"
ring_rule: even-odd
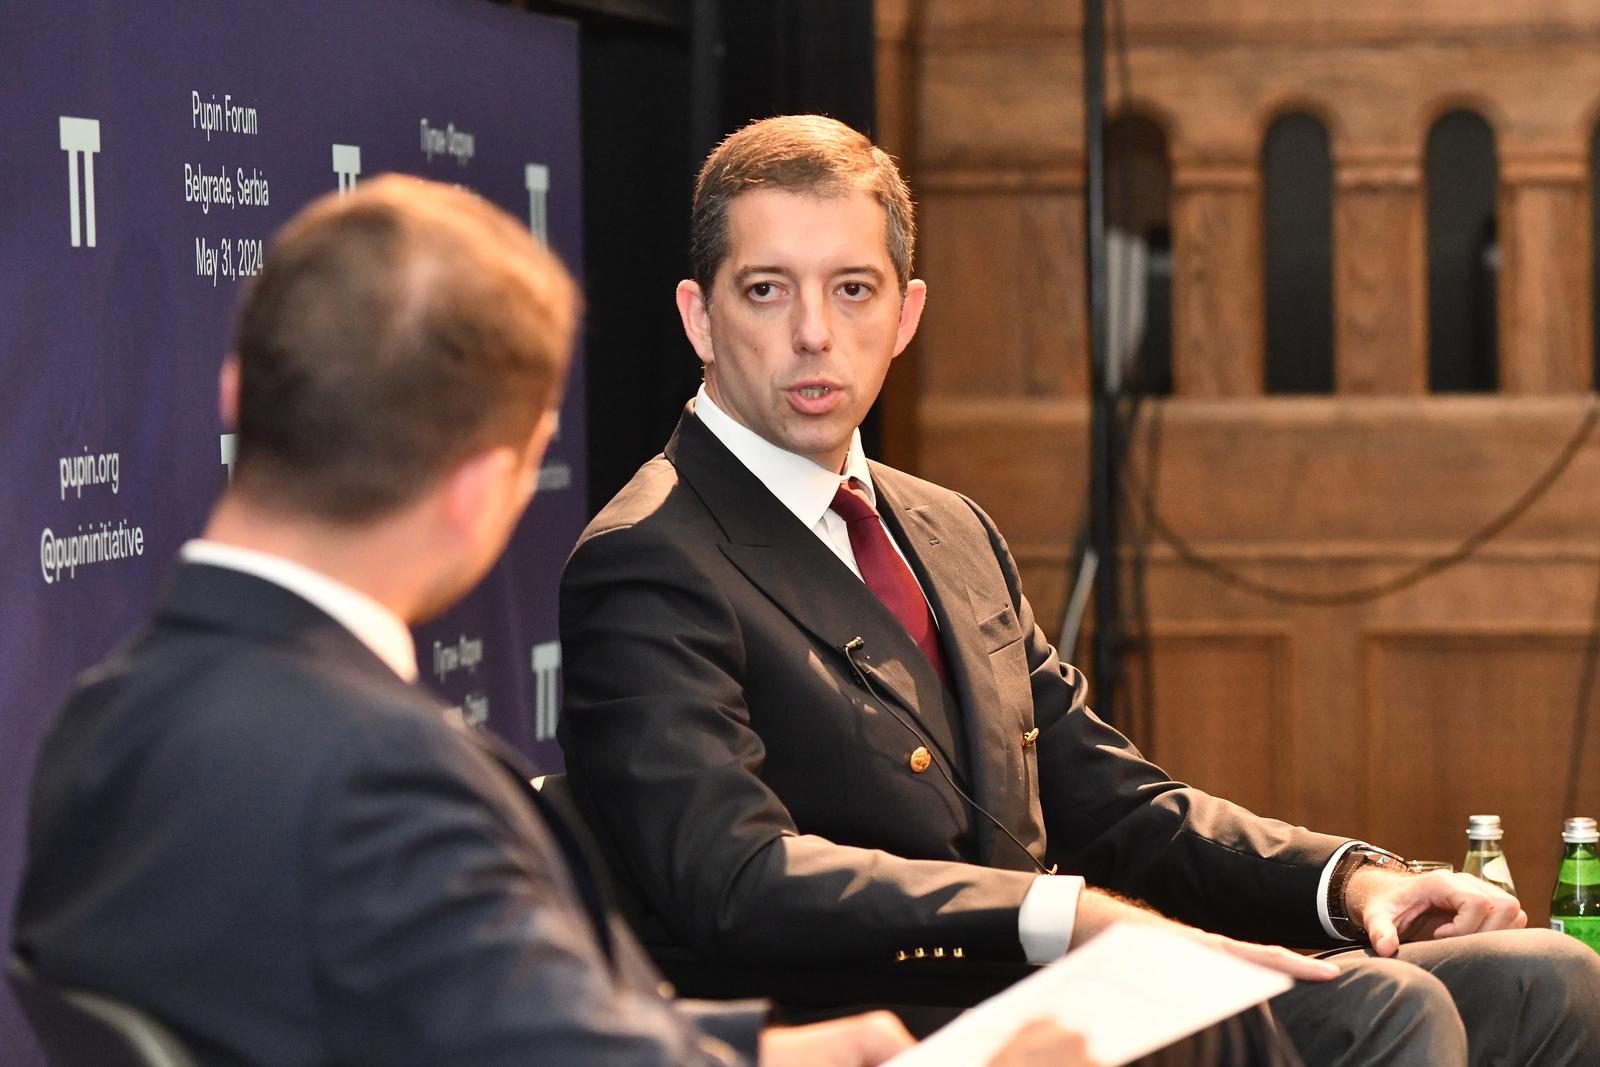
[[[1482,878],[1448,870],[1403,875],[1363,867],[1350,875],[1344,904],[1346,913],[1366,931],[1373,952],[1381,957],[1398,952],[1402,941],[1528,925],[1528,913],[1517,897]]]

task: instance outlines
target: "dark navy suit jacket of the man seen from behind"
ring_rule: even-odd
[[[18,950],[213,1064],[722,1064],[578,841],[294,593],[182,565],[35,774]],[[707,1009],[754,1059],[762,1013]]]

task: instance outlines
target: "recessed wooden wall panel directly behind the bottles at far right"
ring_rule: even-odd
[[[1467,816],[1496,813],[1533,923],[1549,918],[1562,785],[1586,637],[1558,630],[1413,630],[1368,637],[1368,808],[1395,851],[1461,865]]]

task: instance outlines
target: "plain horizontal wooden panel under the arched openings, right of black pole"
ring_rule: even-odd
[[[1381,544],[1427,553],[1507,509],[1549,469],[1589,397],[1168,402],[1134,442],[1162,514],[1182,536],[1269,549]],[[1507,539],[1600,539],[1600,435]]]

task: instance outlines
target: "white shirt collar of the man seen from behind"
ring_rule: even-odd
[[[178,552],[178,557],[186,563],[203,563],[253,574],[290,590],[331,616],[402,680],[416,681],[416,645],[411,643],[410,627],[400,616],[358,589],[280,555],[218,541],[189,541]]]

